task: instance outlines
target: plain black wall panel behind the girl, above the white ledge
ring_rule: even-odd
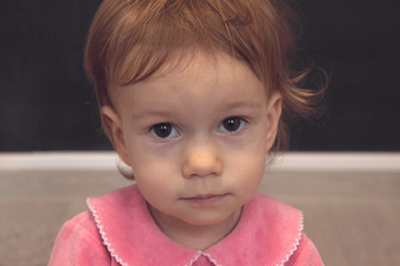
[[[0,152],[111,149],[82,70],[100,0],[0,0]],[[298,1],[299,62],[330,74],[297,151],[400,151],[400,2]]]

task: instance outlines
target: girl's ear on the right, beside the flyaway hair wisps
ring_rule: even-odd
[[[271,150],[278,133],[278,124],[282,114],[282,96],[279,92],[271,95],[267,106],[267,152]]]

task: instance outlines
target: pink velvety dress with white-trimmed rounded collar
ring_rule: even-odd
[[[88,198],[90,212],[67,222],[49,265],[303,266],[323,265],[303,233],[302,213],[263,195],[243,207],[231,234],[207,250],[170,241],[136,185]]]

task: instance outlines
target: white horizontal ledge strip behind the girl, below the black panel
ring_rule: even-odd
[[[116,152],[0,153],[0,171],[114,171]],[[400,172],[400,153],[288,152],[271,171]]]

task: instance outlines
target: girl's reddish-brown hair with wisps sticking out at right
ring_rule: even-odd
[[[112,106],[112,86],[140,82],[167,62],[201,51],[243,61],[282,95],[282,117],[272,151],[288,146],[284,120],[307,116],[322,91],[299,89],[293,75],[293,14],[281,0],[104,0],[91,24],[84,54],[99,108]],[[112,142],[111,132],[103,129]]]

